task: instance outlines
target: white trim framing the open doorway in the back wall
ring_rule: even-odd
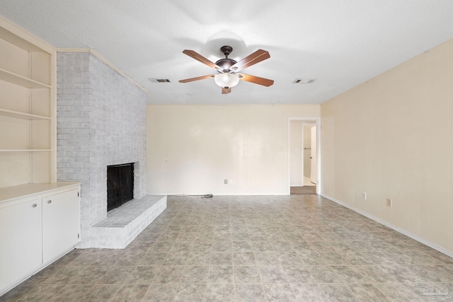
[[[316,124],[316,194],[321,193],[321,117],[288,117],[288,191],[291,194],[291,122],[302,121],[306,124]],[[302,131],[303,134],[303,131]],[[303,151],[303,149],[302,149]]]

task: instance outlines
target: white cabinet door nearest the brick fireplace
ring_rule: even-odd
[[[54,260],[79,242],[79,190],[42,198],[42,257],[44,263]]]

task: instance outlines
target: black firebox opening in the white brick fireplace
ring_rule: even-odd
[[[107,166],[107,211],[134,198],[134,163]]]

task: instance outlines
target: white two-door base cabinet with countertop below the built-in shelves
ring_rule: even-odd
[[[0,188],[0,296],[79,242],[79,182]]]

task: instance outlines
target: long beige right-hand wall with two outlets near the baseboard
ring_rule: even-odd
[[[321,124],[324,195],[453,255],[453,41],[321,104]]]

